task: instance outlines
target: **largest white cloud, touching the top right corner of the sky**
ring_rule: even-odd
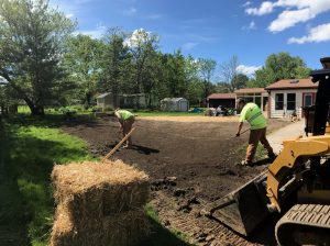
[[[272,13],[275,8],[284,9],[278,16],[271,22],[268,31],[282,32],[298,23],[315,19],[318,14],[330,10],[330,0],[277,0],[265,1],[260,8],[248,8],[250,15],[264,15]]]

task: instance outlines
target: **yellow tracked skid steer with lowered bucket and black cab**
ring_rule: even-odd
[[[266,172],[208,204],[206,215],[249,236],[279,213],[279,245],[330,245],[330,57],[320,62],[323,68],[310,74],[318,82],[315,105],[304,109],[307,136],[285,141]]]

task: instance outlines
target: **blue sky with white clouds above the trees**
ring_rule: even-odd
[[[238,56],[253,72],[273,53],[288,52],[308,67],[330,56],[330,0],[50,0],[78,22],[78,32],[100,37],[108,27],[160,35],[160,49],[180,48],[218,65]]]

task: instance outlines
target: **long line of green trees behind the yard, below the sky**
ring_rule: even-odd
[[[238,71],[237,56],[217,65],[180,49],[162,53],[160,36],[142,29],[110,27],[100,40],[76,34],[77,23],[47,0],[2,0],[0,20],[2,112],[20,101],[35,115],[43,115],[45,107],[89,107],[96,94],[110,91],[157,100],[184,97],[198,104],[213,92],[265,87],[308,77],[310,70],[301,58],[278,53],[249,78]]]

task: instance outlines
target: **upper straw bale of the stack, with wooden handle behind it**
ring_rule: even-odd
[[[74,223],[141,208],[148,198],[148,177],[121,160],[56,165],[54,197],[65,203]]]

